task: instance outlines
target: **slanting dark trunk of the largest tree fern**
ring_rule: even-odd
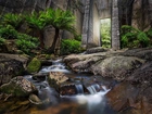
[[[59,33],[60,33],[60,29],[55,28],[54,40],[53,40],[52,46],[49,49],[49,53],[54,53],[54,51],[55,51],[55,45],[56,45],[56,41],[58,41],[58,38],[59,38]]]

